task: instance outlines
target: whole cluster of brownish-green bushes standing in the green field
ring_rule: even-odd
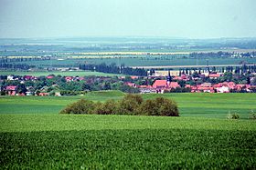
[[[108,100],[104,103],[80,99],[67,105],[60,114],[96,115],[166,115],[178,116],[176,102],[164,97],[144,100],[141,95],[125,95],[119,101]]]

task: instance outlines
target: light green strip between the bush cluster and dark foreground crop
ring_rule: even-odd
[[[253,120],[133,115],[0,115],[1,132],[104,129],[205,129],[255,131]]]

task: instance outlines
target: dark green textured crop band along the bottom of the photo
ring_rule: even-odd
[[[1,133],[1,169],[255,169],[255,131]]]

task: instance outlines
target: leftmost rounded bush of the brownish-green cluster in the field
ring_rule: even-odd
[[[68,105],[59,114],[93,114],[95,105],[90,100],[80,99],[78,102]]]

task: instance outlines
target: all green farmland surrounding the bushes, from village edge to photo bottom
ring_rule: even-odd
[[[255,94],[165,94],[180,117],[59,115],[84,96],[0,97],[1,169],[255,169]],[[144,99],[159,95],[143,95]],[[228,112],[240,120],[228,120]]]

